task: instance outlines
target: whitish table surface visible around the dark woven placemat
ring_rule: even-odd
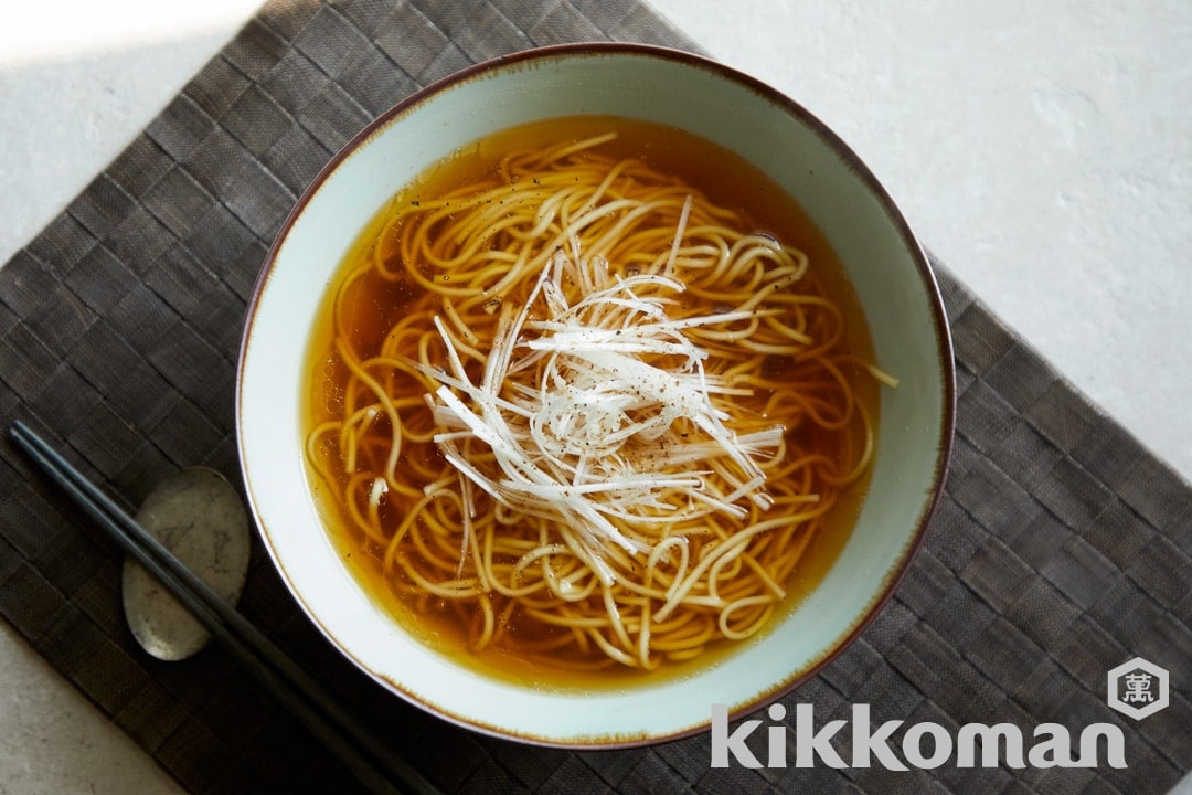
[[[833,128],[930,249],[1192,479],[1192,2],[652,2]],[[0,263],[256,7],[7,8]],[[173,791],[0,621],[0,793]]]

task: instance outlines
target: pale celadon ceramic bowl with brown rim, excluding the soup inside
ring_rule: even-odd
[[[839,259],[880,366],[868,492],[834,561],[757,638],[681,676],[553,688],[489,676],[426,645],[370,596],[330,540],[304,462],[308,344],[361,230],[429,167],[497,131],[600,114],[677,128],[749,161],[789,194]],[[772,88],[672,50],[584,44],[479,64],[361,131],[285,222],[242,341],[237,434],[252,513],[286,586],[327,639],[397,696],[448,721],[565,747],[656,743],[706,729],[713,708],[756,710],[813,676],[881,610],[923,542],[954,422],[948,324],[927,259],[890,197],[824,124]]]

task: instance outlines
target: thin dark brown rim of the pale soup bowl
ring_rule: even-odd
[[[249,504],[249,513],[253,518],[254,528],[262,536],[262,541],[271,558],[272,565],[279,570],[279,576],[284,582],[287,591],[293,596],[299,608],[306,614],[306,620],[311,621],[315,627],[323,634],[328,635],[328,629],[325,629],[319,621],[311,615],[306,607],[306,602],[300,597],[292,586],[291,579],[285,574],[281,563],[274,555],[272,542],[268,540],[269,533],[267,532],[265,523],[262,521],[261,514],[257,510],[257,502],[255,498],[255,492],[253,487],[253,480],[249,474],[248,468],[248,454],[244,446],[244,436],[242,433],[242,420],[243,420],[243,402],[244,402],[244,375],[246,366],[249,353],[249,344],[253,337],[253,329],[256,322],[256,309],[257,305],[268,287],[268,282],[274,274],[275,266],[278,262],[279,253],[285,243],[286,238],[293,225],[297,223],[299,217],[305,211],[306,206],[313,198],[313,195],[322,188],[331,174],[353,154],[356,153],[361,147],[364,147],[372,137],[379,135],[385,128],[395,123],[402,116],[412,111],[414,108],[421,106],[422,104],[429,101],[435,95],[467,81],[474,80],[484,74],[492,72],[495,69],[505,69],[509,67],[516,67],[519,64],[530,64],[541,61],[551,61],[555,58],[567,58],[567,57],[591,57],[591,56],[635,56],[644,58],[659,58],[663,61],[669,61],[677,63],[679,66],[687,66],[695,69],[702,69],[713,73],[728,82],[737,83],[751,92],[755,92],[762,97],[762,99],[781,106],[787,113],[795,117],[799,122],[807,126],[807,129],[817,136],[825,145],[831,148],[844,162],[845,167],[851,170],[863,184],[865,190],[871,194],[874,199],[882,207],[882,212],[888,218],[888,221],[894,226],[898,232],[899,238],[906,248],[906,251],[911,255],[917,275],[920,281],[920,287],[924,291],[924,297],[930,306],[931,312],[931,325],[935,336],[935,355],[937,359],[937,366],[939,368],[939,375],[942,377],[942,403],[940,403],[940,415],[938,428],[936,428],[937,440],[936,440],[936,454],[935,454],[935,472],[930,478],[930,490],[924,495],[921,507],[919,509],[919,517],[915,522],[913,534],[908,534],[907,542],[904,545],[899,559],[892,564],[887,572],[884,582],[881,584],[880,591],[876,597],[870,602],[864,613],[858,614],[853,617],[852,625],[849,629],[836,640],[836,642],[822,651],[822,653],[812,659],[803,669],[797,673],[790,676],[784,682],[778,683],[776,687],[771,688],[769,691],[759,694],[756,698],[749,703],[741,704],[735,709],[731,710],[728,714],[728,721],[739,720],[741,716],[756,713],[771,703],[786,697],[794,690],[799,689],[808,681],[814,678],[820,671],[827,667],[837,657],[839,657],[845,650],[852,646],[853,642],[864,633],[865,629],[876,620],[879,615],[884,610],[886,605],[894,596],[898,590],[899,584],[904,580],[911,570],[912,564],[918,557],[919,551],[923,548],[927,532],[930,529],[932,518],[936,510],[939,507],[944,493],[944,485],[948,478],[948,472],[951,465],[952,448],[954,448],[954,436],[956,428],[956,367],[955,367],[955,354],[952,348],[952,336],[951,328],[948,322],[948,315],[944,306],[943,294],[940,291],[939,281],[936,277],[932,265],[932,257],[923,244],[918,241],[914,231],[911,229],[908,222],[904,217],[901,210],[895,204],[884,186],[877,180],[876,175],[869,169],[869,167],[861,160],[861,157],[849,147],[831,128],[828,128],[824,122],[821,122],[811,111],[803,107],[793,98],[782,93],[781,91],[774,88],[769,83],[745,73],[734,67],[727,66],[712,57],[690,52],[688,50],[682,50],[671,46],[663,46],[657,44],[641,44],[641,43],[625,43],[625,42],[576,42],[565,44],[552,44],[545,46],[535,46],[526,50],[520,50],[513,54],[501,55],[492,58],[488,58],[467,67],[464,67],[447,76],[440,77],[424,87],[415,91],[405,99],[398,101],[391,107],[386,108],[378,116],[375,116],[367,125],[365,125],[359,132],[356,132],[352,138],[349,138],[337,151],[335,151],[331,157],[324,163],[324,166],[318,170],[318,173],[309,181],[309,184],[303,190],[302,194],[296,200],[293,207],[286,215],[285,219],[278,228],[274,238],[269,246],[269,249],[262,261],[261,269],[257,274],[256,281],[254,284],[249,302],[246,306],[243,329],[240,339],[240,349],[236,367],[236,391],[235,391],[235,430],[236,430],[236,446],[237,446],[237,458],[241,468],[241,479],[243,483],[244,492]],[[352,660],[353,665],[359,667],[356,659],[346,653],[346,650],[341,647],[334,638],[328,638],[331,645],[341,653]],[[366,676],[377,679],[377,675],[372,671],[361,671]],[[644,738],[589,738],[584,737],[581,740],[567,739],[567,740],[555,740],[552,738],[535,737],[523,733],[517,733],[516,731],[496,728],[485,723],[480,723],[474,720],[468,720],[465,716],[457,715],[454,713],[447,712],[436,707],[433,703],[426,701],[420,694],[409,691],[404,688],[396,688],[391,683],[385,684],[385,689],[393,695],[401,697],[408,703],[411,703],[420,709],[435,715],[436,718],[445,720],[455,726],[478,732],[482,734],[488,734],[490,737],[497,737],[507,740],[515,740],[520,743],[526,743],[530,745],[539,745],[546,747],[555,747],[564,750],[616,750],[627,747],[641,747],[648,745],[657,745],[662,743],[668,743],[671,740],[681,739],[684,737],[691,737],[707,732],[710,725],[710,715],[708,721],[702,721],[699,725],[690,726],[687,728],[679,728],[668,733],[651,734]]]

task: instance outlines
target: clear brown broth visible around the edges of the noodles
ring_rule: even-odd
[[[764,231],[806,251],[820,284],[845,313],[849,349],[868,361],[874,360],[864,316],[838,257],[806,212],[786,192],[739,156],[702,138],[672,128],[629,119],[579,116],[540,122],[496,133],[467,147],[429,169],[377,213],[348,251],[337,272],[337,279],[358,267],[365,257],[373,255],[378,230],[385,224],[391,212],[390,207],[435,197],[452,187],[484,178],[492,170],[499,154],[511,148],[527,145],[546,148],[560,141],[579,141],[608,130],[617,132],[616,141],[606,150],[609,154],[637,157],[659,170],[676,174],[687,184],[704,192],[714,203],[744,211],[744,215],[753,221],[753,231]],[[322,406],[329,385],[322,374],[330,347],[331,299],[337,279],[333,279],[331,288],[323,300],[321,317],[308,352],[306,372],[311,373],[312,378],[310,391],[305,396],[305,416],[309,426],[304,433],[327,416]],[[362,287],[353,291],[347,306],[355,318],[354,347],[366,352],[379,346],[389,328],[401,317],[403,308],[418,296],[403,282],[389,282],[375,278],[365,279],[360,284]],[[876,423],[879,417],[876,384],[869,378],[856,378],[853,390]],[[410,454],[433,455],[434,452],[415,451]],[[313,470],[308,468],[308,471],[311,491],[329,536],[361,588],[405,631],[478,672],[539,688],[626,688],[654,682],[659,676],[688,676],[695,669],[718,664],[726,654],[741,647],[741,642],[721,642],[695,660],[665,665],[652,672],[623,666],[598,670],[573,670],[565,664],[548,666],[497,648],[473,653],[467,648],[466,633],[461,626],[445,617],[452,615],[451,610],[443,610],[437,616],[418,613],[414,605],[405,604],[395,596],[386,585],[378,557],[362,548],[361,539],[349,529],[350,523],[344,521],[343,507],[329,504],[330,501],[323,496],[327,489],[319,483],[318,476]],[[868,478],[850,486],[833,509],[825,528],[815,535],[800,560],[793,582],[784,583],[788,591],[787,602],[783,611],[771,620],[771,628],[784,614],[797,608],[832,566],[856,522],[867,486]],[[765,631],[762,634],[764,635]],[[743,642],[751,644],[757,640],[758,636],[755,636]]]

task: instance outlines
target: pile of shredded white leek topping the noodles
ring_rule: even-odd
[[[678,236],[684,221],[685,212]],[[671,259],[673,250],[677,243]],[[706,373],[707,352],[684,334],[765,310],[671,321],[665,306],[683,291],[671,269],[668,262],[668,273],[617,278],[603,257],[581,256],[578,244],[570,254],[560,248],[526,304],[505,308],[480,383],[465,374],[439,319],[451,372],[418,365],[440,384],[428,402],[445,456],[502,505],[575,529],[606,583],[614,579],[602,563],[609,544],[650,554],[660,536],[638,532],[645,527],[708,511],[740,518],[749,503],[772,504],[758,461],[775,454],[783,428],[744,436],[728,428],[727,399],[750,391]],[[573,302],[564,280],[579,287]],[[507,384],[540,364],[536,387]],[[473,442],[495,456],[499,477],[468,461],[464,451]],[[724,480],[719,490],[709,486],[713,471]],[[685,508],[662,498],[676,490],[687,495]]]

